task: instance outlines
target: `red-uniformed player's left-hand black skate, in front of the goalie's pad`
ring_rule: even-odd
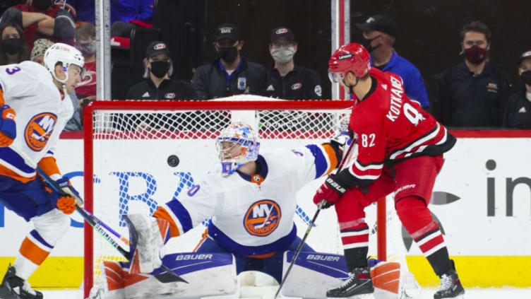
[[[343,298],[354,295],[374,293],[374,286],[371,279],[369,267],[354,268],[347,279],[339,288],[333,288],[326,292],[326,297]]]

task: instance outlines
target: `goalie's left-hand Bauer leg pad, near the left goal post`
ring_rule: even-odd
[[[177,253],[167,254],[162,263],[189,283],[162,283],[150,274],[129,274],[123,262],[102,262],[102,286],[95,286],[88,299],[150,299],[201,298],[208,295],[236,295],[238,291],[236,264],[232,254]],[[174,297],[172,295],[174,294]]]

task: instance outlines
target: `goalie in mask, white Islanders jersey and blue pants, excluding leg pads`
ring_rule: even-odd
[[[262,271],[280,283],[283,253],[300,243],[293,219],[297,191],[337,167],[341,146],[331,141],[258,154],[251,127],[230,124],[217,137],[221,172],[208,175],[153,213],[169,222],[162,240],[182,235],[211,217],[208,236],[196,252],[232,253],[238,274]],[[314,250],[304,245],[303,251]]]

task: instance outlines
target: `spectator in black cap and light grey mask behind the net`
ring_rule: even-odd
[[[269,53],[275,67],[268,71],[266,95],[286,100],[321,99],[321,78],[316,71],[295,66],[293,56],[298,45],[289,28],[273,29]]]

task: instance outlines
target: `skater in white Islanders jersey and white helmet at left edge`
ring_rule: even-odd
[[[0,66],[0,203],[35,226],[8,267],[0,298],[42,298],[28,277],[64,235],[70,226],[68,214],[75,211],[74,199],[52,191],[35,168],[78,194],[61,176],[54,146],[73,114],[67,97],[80,82],[83,55],[58,43],[47,49],[44,65],[23,61]]]

